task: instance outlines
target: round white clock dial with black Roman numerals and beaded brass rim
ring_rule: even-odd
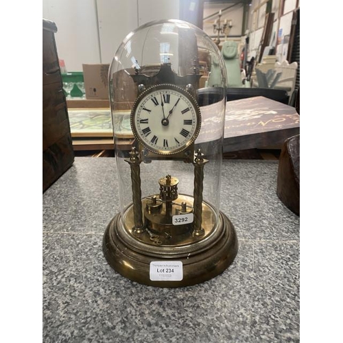
[[[156,154],[176,154],[198,137],[201,119],[196,100],[179,86],[160,84],[147,88],[134,103],[134,136]]]

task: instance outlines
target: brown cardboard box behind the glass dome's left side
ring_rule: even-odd
[[[108,99],[110,64],[82,64],[86,99]]]

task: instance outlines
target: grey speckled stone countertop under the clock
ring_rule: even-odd
[[[277,168],[224,160],[220,209],[237,257],[210,281],[168,289],[110,268],[115,158],[75,158],[43,195],[43,342],[299,342],[299,217],[276,196]]]

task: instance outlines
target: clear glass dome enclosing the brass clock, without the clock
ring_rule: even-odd
[[[204,171],[204,200],[213,204],[216,211],[220,204],[220,169],[222,161],[222,139],[226,105],[226,69],[217,45],[198,27],[184,21],[167,20],[147,23],[130,32],[117,49],[109,70],[110,104],[113,117],[115,151],[119,174],[121,211],[132,202],[130,193],[130,166],[124,161],[128,157],[130,140],[134,134],[130,126],[130,112],[139,93],[137,75],[151,79],[161,71],[161,66],[170,65],[175,79],[172,83],[187,86],[193,76],[193,95],[200,106],[201,129],[195,141],[202,148],[204,158],[209,160]],[[215,68],[215,87],[205,87]],[[174,76],[174,75],[173,75]],[[182,80],[185,78],[185,80]],[[159,81],[154,80],[156,84]],[[165,83],[160,81],[161,83]],[[182,82],[184,84],[182,84]],[[167,107],[167,106],[165,106]],[[133,142],[135,144],[137,142]],[[130,150],[130,149],[129,149]],[[141,165],[141,179],[158,180],[164,174],[178,174],[182,193],[193,194],[192,166],[176,161],[154,161],[154,165]],[[147,182],[141,183],[142,197],[150,196]]]

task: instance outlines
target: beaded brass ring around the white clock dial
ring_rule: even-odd
[[[136,122],[137,110],[139,110],[139,105],[141,104],[141,101],[145,97],[150,95],[151,93],[154,93],[156,91],[161,91],[161,90],[176,91],[176,92],[180,93],[181,95],[183,95],[184,97],[186,97],[186,99],[189,101],[189,103],[193,107],[193,110],[196,114],[196,121],[197,121],[196,122],[196,129],[193,131],[192,136],[187,141],[183,142],[180,147],[177,147],[177,148],[171,147],[169,150],[167,150],[167,149],[164,149],[164,150],[155,149],[151,145],[148,145],[145,141],[143,141],[143,139],[141,139],[140,134],[138,133],[137,125],[136,125],[137,124],[137,122]],[[137,99],[134,102],[134,105],[132,107],[131,114],[130,114],[130,125],[132,128],[132,132],[134,134],[134,137],[139,141],[139,143],[141,145],[143,145],[143,147],[145,147],[147,150],[149,150],[150,152],[153,152],[155,154],[169,156],[169,155],[178,154],[179,152],[186,150],[187,147],[189,147],[196,140],[196,138],[198,137],[198,134],[200,132],[200,128],[201,128],[201,111],[200,111],[200,108],[198,106],[198,102],[196,102],[196,99],[193,97],[193,95],[191,95],[191,93],[189,93],[187,90],[185,90],[181,86],[177,86],[175,84],[167,84],[167,83],[157,84],[154,86],[150,86],[149,88],[146,88],[137,97]]]

